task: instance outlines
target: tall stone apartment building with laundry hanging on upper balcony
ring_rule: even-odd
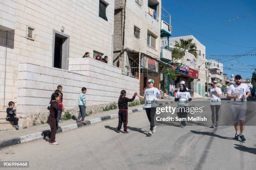
[[[141,93],[148,78],[159,87],[160,30],[161,0],[115,0],[114,65],[140,78]]]

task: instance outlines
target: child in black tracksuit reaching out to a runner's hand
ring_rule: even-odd
[[[122,128],[122,124],[123,124],[123,131],[124,133],[128,133],[127,131],[127,123],[128,123],[128,102],[132,102],[137,93],[135,92],[134,95],[133,95],[133,98],[129,99],[127,97],[125,97],[126,95],[126,92],[125,90],[122,90],[121,91],[121,95],[119,97],[119,100],[118,100],[118,109],[119,109],[119,112],[118,112],[118,130],[116,131],[117,133],[120,133],[121,132],[121,128]]]

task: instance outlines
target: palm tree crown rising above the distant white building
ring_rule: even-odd
[[[195,57],[197,57],[197,45],[195,43],[192,43],[193,38],[189,38],[187,40],[184,40],[184,39],[179,39],[179,40],[180,40],[180,43],[175,41],[176,44],[174,46],[188,50],[188,52],[190,52],[191,54],[195,55]]]

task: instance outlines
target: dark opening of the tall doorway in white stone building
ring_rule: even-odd
[[[55,36],[54,67],[61,68],[63,38]]]

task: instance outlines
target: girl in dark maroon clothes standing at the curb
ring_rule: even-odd
[[[49,135],[49,138],[50,138],[49,144],[51,145],[59,144],[55,140],[55,135],[58,127],[58,123],[56,119],[58,117],[58,110],[61,110],[61,107],[59,107],[58,105],[58,101],[59,101],[59,93],[54,92],[51,95],[51,102],[50,102],[50,108],[49,108],[50,114],[47,121],[51,127],[51,133]]]

